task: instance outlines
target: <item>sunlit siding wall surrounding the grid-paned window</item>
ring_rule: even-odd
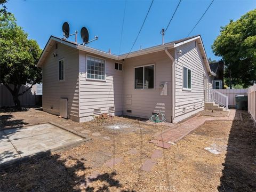
[[[94,115],[104,113],[122,115],[124,71],[115,69],[115,62],[118,61],[89,54],[106,60],[106,81],[86,79],[86,55],[84,51],[79,52],[79,121],[85,122]],[[115,110],[111,111],[109,107]],[[101,112],[94,113],[94,109],[98,108]]]

